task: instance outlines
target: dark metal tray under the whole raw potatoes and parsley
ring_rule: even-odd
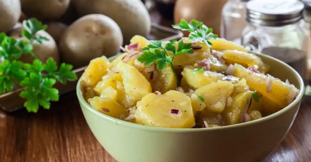
[[[165,27],[158,24],[152,24],[151,33],[147,36],[149,40],[162,40],[162,41],[171,41],[174,39],[180,39],[183,37],[183,33],[179,30],[175,30],[169,27]],[[73,70],[77,77],[80,78],[83,74],[85,67],[81,67]],[[76,90],[77,81],[75,82],[67,82],[66,85],[56,83],[55,88],[59,90],[59,94],[65,94],[67,92],[72,92]],[[18,109],[23,108],[25,99],[19,96],[20,92],[23,88],[19,88],[13,90],[11,92],[7,92],[0,95],[0,108],[6,112],[16,111]]]

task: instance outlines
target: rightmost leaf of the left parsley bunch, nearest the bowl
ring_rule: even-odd
[[[69,81],[77,80],[77,75],[71,71],[72,68],[73,68],[72,65],[62,63],[59,67],[58,75],[56,75],[56,79],[62,84],[66,84],[67,80]]]

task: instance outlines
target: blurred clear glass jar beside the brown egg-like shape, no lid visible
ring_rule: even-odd
[[[222,8],[220,36],[241,44],[241,35],[247,25],[245,20],[246,3],[249,0],[228,0]]]

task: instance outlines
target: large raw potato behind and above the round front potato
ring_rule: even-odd
[[[103,14],[113,19],[128,44],[134,35],[146,37],[151,30],[150,15],[141,0],[75,0],[80,15]]]

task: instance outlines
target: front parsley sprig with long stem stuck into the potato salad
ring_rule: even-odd
[[[183,53],[193,53],[192,43],[178,42],[178,47],[175,47],[176,40],[162,45],[162,41],[149,41],[149,45],[142,49],[143,53],[137,58],[138,61],[145,66],[150,66],[156,61],[156,66],[159,70],[164,69],[167,64],[172,68],[177,80],[178,76],[173,66],[173,60],[176,56]],[[172,54],[172,57],[168,55]]]

